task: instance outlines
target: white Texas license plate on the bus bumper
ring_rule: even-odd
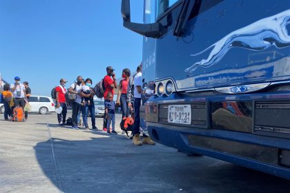
[[[191,125],[191,105],[168,105],[168,123]]]

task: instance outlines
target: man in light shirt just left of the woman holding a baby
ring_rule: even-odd
[[[76,94],[75,102],[72,103],[72,128],[75,130],[78,130],[77,128],[77,116],[81,112],[81,97],[89,97],[90,94],[84,94],[81,92],[81,83],[82,83],[82,77],[77,77],[77,83],[73,83],[70,85],[70,88],[68,89],[68,92],[71,94]]]

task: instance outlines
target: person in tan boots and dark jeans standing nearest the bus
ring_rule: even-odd
[[[134,145],[155,145],[155,142],[150,139],[149,136],[143,134],[143,141],[140,140],[140,106],[141,106],[141,94],[142,94],[142,65],[137,67],[137,74],[134,77],[134,125],[133,125],[133,144]],[[131,103],[128,103],[131,106]]]

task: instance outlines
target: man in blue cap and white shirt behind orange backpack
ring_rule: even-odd
[[[14,107],[20,106],[24,110],[26,98],[25,86],[20,82],[19,77],[14,77],[14,84],[10,85],[10,90],[13,93]]]

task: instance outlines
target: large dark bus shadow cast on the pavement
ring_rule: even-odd
[[[51,126],[51,125],[50,125]],[[78,131],[76,131],[78,132]],[[89,131],[90,132],[90,131]],[[81,132],[80,132],[81,133]],[[289,192],[290,181],[121,135],[37,143],[43,173],[64,192]],[[53,152],[52,154],[52,146]]]

